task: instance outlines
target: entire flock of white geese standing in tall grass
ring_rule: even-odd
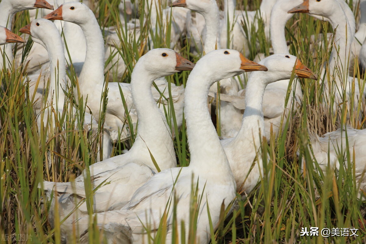
[[[138,19],[132,18],[137,11],[137,2],[135,0],[132,4],[122,0],[119,5],[121,21],[125,21],[128,31],[135,35],[138,35],[138,26],[142,26]],[[145,11],[150,12],[150,21],[154,26],[160,5],[157,0],[145,3]],[[173,21],[171,47],[177,48],[180,37],[186,35],[187,41],[191,42],[191,51],[202,53],[201,59],[194,64],[175,50],[154,48],[139,58],[130,83],[109,82],[107,87],[104,74],[105,60],[109,55],[114,54],[113,65],[107,65],[106,69],[110,70],[110,76],[113,74],[113,79],[122,77],[126,71],[123,58],[116,51],[119,42],[116,31],[113,28],[107,31],[108,41],[105,44],[100,26],[87,2],[64,3],[57,0],[53,4],[59,7],[47,12],[54,8],[45,0],[2,0],[0,45],[26,42],[9,30],[16,12],[36,8],[45,10],[40,11],[45,14],[42,19],[36,19],[35,14],[30,12],[33,20],[19,30],[29,34],[35,42],[25,62],[32,95],[39,101],[42,97],[46,100],[46,104],[34,104],[35,111],[42,114],[38,117],[39,127],[48,123],[50,116],[70,109],[64,105],[64,91],[70,82],[66,69],[71,63],[78,75],[79,91],[91,111],[85,115],[85,125],[98,124],[102,93],[108,88],[108,104],[103,111],[103,146],[100,149],[103,160],[90,165],[72,182],[44,181],[40,184],[52,201],[49,212],[51,224],[54,224],[54,219],[65,218],[61,224],[64,241],[71,233],[76,233],[81,242],[87,243],[85,232],[90,222],[90,208],[85,201],[88,195],[85,180],[91,179],[94,189],[92,211],[97,215],[95,224],[109,233],[107,240],[110,243],[147,243],[164,214],[167,215],[168,243],[173,241],[172,233],[176,230],[187,240],[191,194],[196,186],[201,202],[195,240],[209,243],[210,224],[217,226],[222,204],[230,206],[236,192],[241,195],[249,193],[263,177],[262,136],[269,139],[271,130],[275,135],[280,134],[283,130],[281,120],[289,119],[289,111],[301,104],[302,90],[298,78],[318,80],[319,77],[319,82],[324,84],[325,98],[327,94],[335,97],[335,104],[332,105],[334,113],[340,104],[352,100],[358,104],[365,100],[365,88],[350,76],[349,70],[353,68],[347,65],[357,56],[360,65],[366,67],[365,0],[360,0],[361,23],[357,32],[355,17],[344,0],[262,0],[258,11],[235,10],[234,0],[224,0],[223,12],[219,11],[215,0],[177,0],[161,10],[163,26],[170,19]],[[307,13],[329,21],[336,30],[334,37],[328,35],[333,49],[319,75],[315,75],[289,52],[285,24],[295,13]],[[264,22],[265,34],[268,39],[270,37],[274,54],[268,57],[262,55],[258,58],[261,60],[255,63],[247,59],[250,37],[246,36],[242,25],[258,28],[259,17]],[[363,40],[365,42],[361,45]],[[221,49],[223,47],[230,48]],[[21,50],[16,51],[15,57],[11,45],[1,46],[0,51],[3,57],[0,60],[1,68],[19,65],[21,59],[18,56],[21,54],[18,55],[18,52]],[[357,64],[350,62],[352,65]],[[178,127],[182,126],[184,108],[190,165],[176,167],[172,128],[169,128],[164,113],[164,106],[169,101],[162,100],[161,93],[169,97],[168,82],[164,77],[183,70],[191,71],[186,86],[172,84],[169,101],[173,102],[177,121],[180,121],[176,125]],[[238,78],[234,77],[242,76],[244,72],[251,74],[242,90]],[[290,84],[294,76],[296,79]],[[49,80],[49,85],[47,82],[37,82],[38,79]],[[221,140],[207,106],[208,97],[216,98],[218,95],[214,83],[219,80],[221,125],[227,138]],[[153,87],[153,82],[158,90]],[[123,91],[123,99],[120,90]],[[77,92],[75,89],[74,94]],[[288,93],[290,102],[286,104]],[[325,99],[327,102],[329,100]],[[71,109],[78,112],[76,108]],[[135,125],[138,121],[137,131],[126,125],[128,112]],[[130,133],[136,133],[131,149],[110,157],[112,143],[126,140]],[[366,190],[366,150],[362,150],[366,144],[365,130],[343,128],[322,137],[310,135],[310,141],[314,160],[324,172],[328,166],[340,167],[339,155],[344,154],[347,141],[349,150],[355,156],[352,160],[356,182]],[[176,204],[176,212],[167,205],[169,201]],[[55,218],[56,214],[60,216]],[[172,226],[173,215],[179,225],[184,226],[175,229]]]

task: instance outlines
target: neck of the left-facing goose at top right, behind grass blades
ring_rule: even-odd
[[[345,11],[350,11],[349,7],[348,9],[342,8],[342,5],[337,1],[335,1],[335,4],[339,4],[339,6],[336,6],[333,13],[328,16],[333,29],[337,28],[334,41],[335,46],[333,46],[332,53],[329,57],[329,68],[330,71],[334,71],[338,67],[344,74],[348,74],[347,64],[356,28],[355,19],[354,17],[353,19],[349,19],[351,16],[347,18]]]

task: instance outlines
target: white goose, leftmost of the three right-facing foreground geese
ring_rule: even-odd
[[[92,187],[98,187],[94,196],[94,210],[106,211],[127,203],[132,194],[159,169],[176,167],[172,134],[165,116],[153,99],[151,84],[161,76],[191,70],[193,67],[193,63],[171,49],[153,49],[138,60],[131,80],[132,98],[139,120],[135,143],[122,155],[90,165],[89,170],[85,170],[74,182],[44,182],[48,197],[54,187],[61,194],[57,200],[62,218],[75,207],[72,193],[76,194],[78,201],[85,198],[84,179],[87,171],[91,175]],[[158,166],[154,165],[152,157]],[[87,215],[86,203],[68,221],[72,221],[77,214]]]

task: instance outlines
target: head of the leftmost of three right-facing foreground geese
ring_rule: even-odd
[[[192,70],[194,67],[194,63],[168,48],[150,50],[139,58],[137,65],[143,65],[145,72],[154,79],[172,75],[182,70]]]

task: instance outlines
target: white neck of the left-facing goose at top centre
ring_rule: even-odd
[[[215,50],[215,46],[217,45],[217,49],[220,49],[220,13],[219,7],[217,4],[209,4],[208,8],[204,12],[200,14],[203,15],[206,23],[206,35],[205,35],[205,44],[204,50],[205,53],[211,52]]]

